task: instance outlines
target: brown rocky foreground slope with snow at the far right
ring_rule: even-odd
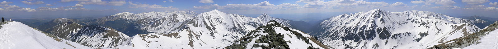
[[[427,49],[498,49],[498,22],[469,36],[453,39]]]

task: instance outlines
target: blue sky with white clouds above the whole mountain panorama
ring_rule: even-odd
[[[218,9],[226,13],[314,21],[372,9],[422,10],[454,17],[498,17],[498,0],[0,0],[0,16],[104,17],[120,12]]]

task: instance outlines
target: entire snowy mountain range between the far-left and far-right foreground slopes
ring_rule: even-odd
[[[455,47],[463,43],[476,44],[476,35],[489,33],[483,28],[494,30],[488,26],[492,24],[489,19],[476,17],[373,9],[308,24],[265,13],[248,17],[214,9],[202,13],[122,12],[91,20],[57,18],[36,28],[88,48],[452,49],[464,48]]]

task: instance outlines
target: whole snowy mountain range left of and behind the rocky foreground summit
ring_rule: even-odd
[[[218,10],[201,14],[196,14],[192,11],[152,11],[139,14],[123,12],[90,20],[89,22],[82,22],[85,25],[92,24],[88,26],[74,23],[80,21],[66,19],[58,18],[50,21],[49,24],[40,26],[51,27],[45,29],[45,32],[49,32],[54,36],[92,48],[135,49],[154,47],[177,49],[223,48],[246,35],[250,30],[263,26],[270,20],[281,22],[285,26],[302,25],[294,23],[305,23],[303,21],[274,18],[267,14],[252,18]],[[181,42],[166,42],[171,40],[180,40]]]

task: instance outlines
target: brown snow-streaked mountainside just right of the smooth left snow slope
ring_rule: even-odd
[[[129,39],[129,36],[111,28],[98,25],[83,26],[74,21],[56,21],[61,24],[50,25],[45,29],[53,36],[76,42],[92,48],[115,48]]]

